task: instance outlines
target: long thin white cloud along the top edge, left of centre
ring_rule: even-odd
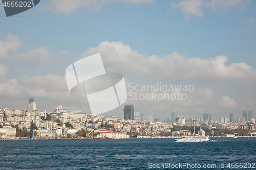
[[[111,2],[125,2],[125,3],[153,3],[153,0],[49,0],[46,4],[38,8],[38,12],[52,11],[63,14],[72,13],[80,8],[94,8],[98,9],[102,5]]]

